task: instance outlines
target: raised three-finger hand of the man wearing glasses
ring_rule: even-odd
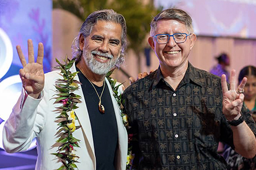
[[[221,76],[223,94],[222,112],[229,121],[237,120],[241,116],[240,112],[243,105],[243,99],[245,97],[242,92],[246,82],[247,78],[243,78],[236,90],[236,70],[232,70],[230,76],[230,90],[228,90],[226,75],[222,74]]]

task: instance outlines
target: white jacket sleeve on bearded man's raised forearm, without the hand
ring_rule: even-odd
[[[24,90],[3,127],[3,147],[13,153],[27,150],[43,127],[43,114],[36,114],[42,99],[25,97]]]

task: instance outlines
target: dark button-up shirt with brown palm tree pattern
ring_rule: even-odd
[[[218,142],[233,145],[232,129],[222,114],[220,77],[188,64],[176,90],[160,68],[131,84],[123,93],[133,133],[134,165],[139,170],[220,170],[226,162]],[[256,134],[246,108],[245,121]]]

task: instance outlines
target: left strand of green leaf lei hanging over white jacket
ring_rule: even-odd
[[[59,130],[56,133],[57,136],[60,135],[60,138],[57,139],[56,142],[59,142],[61,145],[53,155],[56,155],[63,163],[57,170],[72,170],[77,168],[76,163],[79,163],[77,161],[79,156],[75,154],[74,147],[79,147],[80,139],[73,137],[72,133],[80,128],[80,126],[75,125],[77,117],[74,110],[79,108],[76,106],[77,103],[81,103],[81,96],[76,95],[73,92],[79,88],[78,84],[81,83],[74,80],[79,72],[71,73],[71,71],[69,71],[75,62],[75,59],[70,60],[66,56],[64,64],[61,64],[58,59],[56,59],[56,62],[59,63],[59,66],[56,66],[55,68],[61,71],[60,75],[63,76],[63,79],[56,80],[56,97],[53,97],[52,99],[55,99],[54,104],[62,104],[60,107],[56,107],[55,110],[55,112],[59,113],[59,116],[57,116],[56,119],[60,121],[59,124],[57,124],[59,126],[57,129]]]

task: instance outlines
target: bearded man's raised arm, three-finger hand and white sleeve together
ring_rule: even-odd
[[[36,62],[32,40],[28,40],[28,63],[20,46],[16,46],[16,49],[23,65],[23,69],[19,70],[19,75],[24,90],[3,129],[3,145],[7,152],[26,150],[40,131],[34,128],[34,126],[39,127],[39,124],[35,123],[36,120],[43,121],[42,116],[36,114],[40,103],[38,97],[44,87],[43,44],[38,45]]]

